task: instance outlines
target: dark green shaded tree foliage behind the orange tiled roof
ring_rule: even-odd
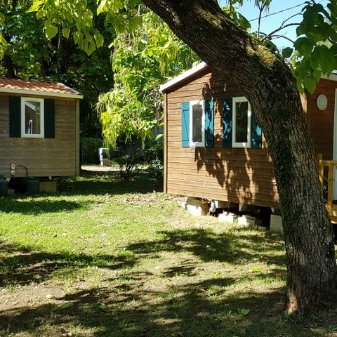
[[[72,37],[62,34],[62,27],[51,39],[47,34],[44,16],[39,19],[32,11],[32,0],[11,0],[0,3],[0,35],[6,42],[0,60],[2,77],[61,81],[84,94],[81,101],[81,136],[101,135],[101,126],[95,112],[100,93],[110,90],[114,82],[109,48],[115,37],[114,27],[105,15],[92,18],[100,32],[103,46],[90,55],[77,45]],[[88,1],[91,13],[96,13],[95,1]],[[29,10],[30,8],[30,10]],[[76,15],[75,15],[76,18]],[[48,24],[47,24],[48,26]],[[68,27],[71,27],[70,22]]]

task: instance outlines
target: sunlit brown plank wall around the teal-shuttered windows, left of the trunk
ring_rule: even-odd
[[[190,197],[277,207],[272,159],[265,141],[262,149],[223,147],[223,100],[235,96],[242,95],[228,79],[207,70],[165,95],[164,190]],[[181,103],[201,99],[215,100],[214,147],[182,147]]]

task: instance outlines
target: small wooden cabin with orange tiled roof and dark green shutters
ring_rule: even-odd
[[[81,98],[60,83],[0,79],[0,176],[78,175]]]

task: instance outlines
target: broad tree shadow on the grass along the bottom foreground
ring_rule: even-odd
[[[48,303],[0,312],[0,332],[9,327],[11,333],[47,336],[44,333],[48,326],[48,336],[58,336],[61,326],[70,331],[81,326],[84,332],[76,336],[328,336],[326,329],[333,322],[333,314],[316,322],[282,317],[282,291],[241,291],[234,296],[211,296],[207,292],[211,287],[233,282],[227,278],[208,279],[171,285],[165,292],[146,290],[138,282],[129,282],[122,293],[114,287],[81,290],[57,298],[74,304],[67,310],[57,310],[55,304]],[[243,309],[248,315],[240,314]],[[314,333],[313,328],[322,332]]]

